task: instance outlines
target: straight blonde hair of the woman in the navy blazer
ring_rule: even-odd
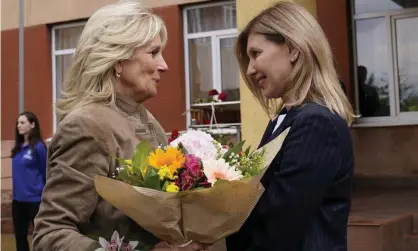
[[[247,76],[249,57],[248,36],[264,35],[269,41],[296,49],[299,54],[285,85],[281,105],[298,106],[315,102],[328,107],[351,124],[353,109],[342,90],[330,45],[316,19],[303,7],[291,2],[279,2],[254,17],[237,39],[236,54],[241,74],[263,109],[271,115],[276,113],[276,100],[261,93],[257,83]]]

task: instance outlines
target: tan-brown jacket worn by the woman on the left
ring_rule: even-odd
[[[166,145],[163,128],[141,104],[117,95],[117,109],[91,104],[68,114],[49,148],[47,182],[35,219],[34,251],[83,251],[100,247],[114,229],[125,239],[155,243],[97,194],[93,177],[111,177],[114,155],[131,158],[139,140]],[[140,249],[140,248],[138,248]]]

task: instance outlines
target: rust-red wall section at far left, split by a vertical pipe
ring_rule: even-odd
[[[14,140],[19,113],[18,30],[2,31],[1,139]],[[52,68],[49,30],[46,25],[25,28],[24,108],[34,112],[44,137],[52,135]]]

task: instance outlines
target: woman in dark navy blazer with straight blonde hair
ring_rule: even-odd
[[[228,251],[347,250],[354,114],[321,27],[303,7],[279,2],[240,33],[237,57],[264,110],[280,111],[260,146],[290,131],[261,181],[265,193],[227,238]]]

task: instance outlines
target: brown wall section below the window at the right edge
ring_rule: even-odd
[[[358,176],[416,177],[418,180],[418,126],[353,128],[351,131]]]

